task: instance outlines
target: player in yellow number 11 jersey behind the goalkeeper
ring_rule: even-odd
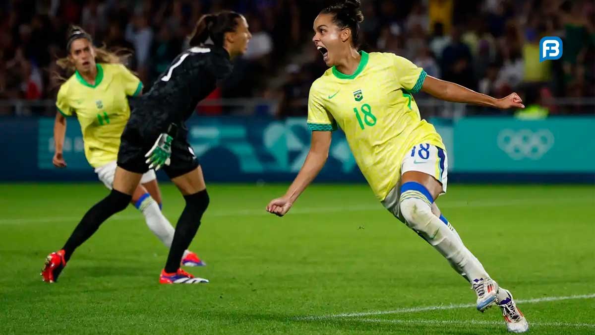
[[[62,156],[66,117],[76,114],[83,133],[84,154],[95,168],[99,180],[111,190],[120,136],[130,118],[128,97],[142,92],[143,84],[123,64],[120,58],[102,48],[95,48],[92,38],[80,27],[68,33],[68,57],[58,64],[74,74],[60,86],[54,123],[55,154],[53,163],[65,168]],[[145,216],[149,229],[168,248],[174,238],[174,228],[161,213],[161,192],[154,170],[146,172],[134,190],[131,201]],[[204,265],[195,253],[186,250],[182,265]]]

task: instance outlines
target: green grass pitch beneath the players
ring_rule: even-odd
[[[209,284],[159,285],[167,250],[130,206],[49,285],[45,256],[107,191],[0,185],[0,334],[506,333],[499,310],[468,306],[466,281],[367,185],[312,185],[289,215],[267,215],[285,188],[209,185],[190,246],[208,265],[187,268]],[[183,199],[171,184],[162,191],[176,222]],[[592,185],[451,185],[438,204],[491,276],[526,301],[531,334],[595,333]]]

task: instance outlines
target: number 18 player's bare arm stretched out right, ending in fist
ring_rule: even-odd
[[[512,93],[502,99],[496,99],[489,95],[472,91],[456,83],[446,82],[432,76],[425,77],[424,85],[421,89],[433,97],[444,101],[452,101],[453,103],[467,103],[501,109],[525,108],[521,97],[516,93]]]

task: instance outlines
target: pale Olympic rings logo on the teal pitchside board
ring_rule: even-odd
[[[498,147],[513,160],[538,160],[554,145],[554,135],[549,129],[503,129],[498,134]]]

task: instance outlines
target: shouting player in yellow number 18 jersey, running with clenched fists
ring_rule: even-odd
[[[441,100],[497,108],[523,108],[521,98],[516,94],[488,97],[427,76],[403,57],[358,51],[363,20],[355,0],[327,7],[315,19],[312,40],[331,68],[310,89],[309,154],[287,193],[271,200],[267,211],[278,216],[289,211],[322,169],[331,131],[339,126],[378,200],[471,283],[477,309],[496,304],[509,331],[527,331],[527,321],[511,293],[490,278],[434,203],[446,192],[446,150],[434,126],[421,120],[413,95],[424,91]]]

